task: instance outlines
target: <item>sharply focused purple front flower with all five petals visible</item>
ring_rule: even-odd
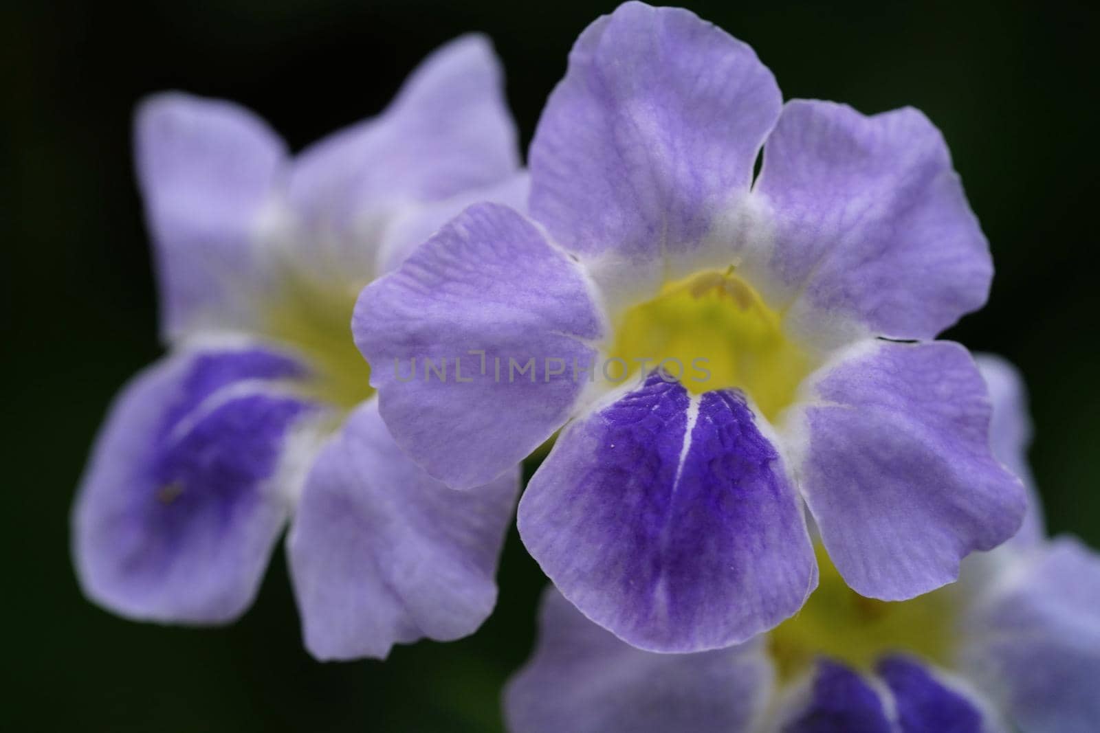
[[[804,506],[886,600],[1016,532],[981,377],[933,341],[992,265],[921,112],[783,104],[745,44],[629,2],[578,40],[530,173],[529,215],[471,207],[353,330],[396,442],[449,485],[564,426],[519,531],[586,617],[661,652],[774,626],[817,584]]]

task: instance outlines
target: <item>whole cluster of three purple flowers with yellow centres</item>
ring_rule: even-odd
[[[475,36],[294,157],[180,93],[135,136],[169,353],[76,501],[96,602],[231,621],[289,524],[316,657],[464,636],[553,441],[515,733],[1100,726],[1100,558],[1044,537],[1012,368],[935,340],[992,264],[919,111],[784,103],[747,45],[628,2],[527,170]],[[472,349],[461,380],[391,368]],[[484,368],[548,359],[708,378]]]

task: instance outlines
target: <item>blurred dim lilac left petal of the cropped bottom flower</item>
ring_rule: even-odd
[[[553,588],[534,656],[508,682],[512,733],[743,733],[767,707],[774,673],[762,640],[700,654],[634,648]]]

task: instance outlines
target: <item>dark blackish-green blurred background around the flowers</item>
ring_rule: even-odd
[[[924,110],[998,273],[949,337],[1024,371],[1052,532],[1100,546],[1093,251],[1097,12],[1023,2],[685,2],[751,44],[785,97]],[[80,596],[68,511],[116,390],[155,359],[130,115],[178,88],[237,100],[297,149],[378,112],[429,51],[487,33],[524,146],[578,33],[614,3],[21,2],[0,10],[4,633],[0,726],[89,731],[499,731],[543,578],[515,532],[496,613],[386,663],[315,663],[282,552],[237,624],[136,624]],[[530,467],[528,467],[528,471]],[[8,719],[8,720],[4,720]],[[563,732],[564,733],[564,732]]]

